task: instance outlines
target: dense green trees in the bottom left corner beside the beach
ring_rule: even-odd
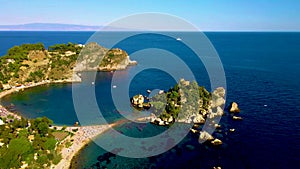
[[[6,119],[2,119],[6,120]],[[27,163],[32,168],[57,164],[61,155],[55,150],[58,140],[50,129],[53,122],[46,118],[14,119],[0,126],[0,168],[20,168]]]

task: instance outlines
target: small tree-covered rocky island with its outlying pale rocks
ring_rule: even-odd
[[[144,107],[145,104],[143,96],[134,96],[132,104],[141,110],[140,108]],[[200,143],[207,142],[214,146],[222,145],[223,142],[220,139],[214,138],[209,132],[202,130],[200,126],[206,123],[210,129],[222,128],[218,124],[218,119],[225,115],[223,110],[225,107],[225,89],[223,87],[218,87],[210,93],[195,81],[180,79],[178,84],[167,92],[159,92],[149,98],[147,104],[150,104],[151,115],[137,119],[137,121],[149,121],[160,126],[170,126],[175,122],[192,123],[194,126],[190,131],[198,134]],[[228,112],[231,115],[232,113],[239,113],[238,104],[232,102],[228,107]],[[232,116],[232,119],[242,118]],[[235,129],[229,129],[226,132],[234,131]]]

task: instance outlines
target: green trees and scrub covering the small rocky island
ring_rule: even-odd
[[[181,80],[173,88],[164,94],[157,94],[151,98],[152,112],[161,119],[180,119],[190,115],[190,112],[208,110],[211,100],[209,93],[203,86],[198,86],[197,82],[187,83]]]

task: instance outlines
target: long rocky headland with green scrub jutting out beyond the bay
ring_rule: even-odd
[[[9,49],[0,58],[0,84],[73,81],[74,71],[121,70],[133,64],[136,62],[131,61],[125,51],[109,50],[97,43],[57,44],[48,50],[43,44],[24,44]]]

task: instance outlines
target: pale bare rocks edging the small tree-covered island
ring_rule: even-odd
[[[185,85],[182,85],[182,84],[185,84]],[[187,87],[190,84],[191,83],[189,81],[185,81],[184,79],[181,79],[179,82],[179,86]],[[191,89],[189,88],[189,90],[191,90]],[[195,90],[194,92],[197,93],[198,91]],[[209,126],[210,131],[211,131],[211,129],[213,129],[213,130],[217,129],[217,131],[222,131],[221,130],[222,126],[218,122],[220,121],[222,116],[226,115],[224,112],[225,103],[226,103],[225,92],[226,91],[223,87],[216,88],[211,93],[211,95],[210,95],[211,97],[208,97],[209,102],[208,102],[207,107],[204,107],[204,105],[203,105],[203,100],[205,98],[199,97],[198,98],[199,100],[196,101],[196,102],[200,103],[200,104],[196,104],[196,106],[198,106],[198,108],[194,109],[192,106],[188,105],[187,107],[189,107],[189,108],[185,109],[185,112],[189,112],[189,113],[185,114],[184,116],[178,116],[177,118],[173,117],[173,116],[166,117],[164,114],[156,115],[155,113],[152,112],[150,114],[150,116],[136,119],[136,121],[137,122],[150,122],[152,124],[159,125],[159,126],[170,126],[175,122],[176,123],[193,124],[193,127],[190,129],[190,131],[191,131],[191,133],[198,135],[199,143],[205,142],[205,143],[208,143],[213,146],[220,146],[223,144],[223,142],[220,138],[213,137],[212,136],[213,133],[209,133],[205,129],[203,129],[199,126],[207,125],[207,126]],[[160,94],[165,94],[168,97],[168,93],[160,93]],[[191,95],[191,93],[182,92],[180,95],[181,96],[180,100],[187,102],[185,94]],[[139,100],[143,101],[143,99],[141,99],[141,98]],[[195,101],[193,100],[193,102],[195,102]],[[143,105],[145,103],[132,102],[132,104],[133,104],[133,106],[136,107],[139,105]],[[151,98],[150,98],[149,104],[151,104]],[[169,104],[169,103],[167,103],[167,104]],[[183,108],[182,104],[179,104],[179,105],[181,108]],[[195,105],[193,105],[193,106],[195,106]],[[151,107],[150,111],[153,111],[153,109],[152,109],[153,105],[151,105],[150,107]],[[227,110],[228,110],[229,116],[232,117],[232,120],[242,120],[242,117],[237,116],[237,114],[240,112],[240,109],[236,102],[230,103],[230,105],[227,107]],[[172,113],[170,113],[170,114],[172,114]],[[235,131],[234,128],[230,128],[228,130],[228,132],[234,132],[234,131]]]

